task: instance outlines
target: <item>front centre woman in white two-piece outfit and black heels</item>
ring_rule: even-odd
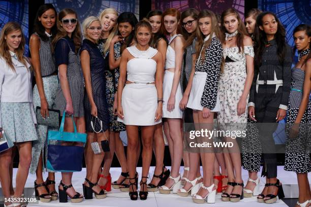
[[[147,176],[152,158],[154,125],[160,123],[162,117],[163,57],[149,46],[151,30],[148,22],[140,21],[135,28],[137,45],[125,49],[120,61],[117,115],[118,121],[126,125],[128,135],[129,194],[132,200],[138,198],[135,176],[139,150],[138,127],[141,126],[143,145],[139,197],[145,200],[148,195]]]

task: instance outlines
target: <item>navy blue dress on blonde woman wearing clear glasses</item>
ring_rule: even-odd
[[[80,54],[83,50],[87,50],[90,58],[90,78],[91,78],[91,87],[92,94],[95,105],[97,107],[98,118],[103,122],[103,131],[106,131],[109,128],[109,113],[108,105],[106,100],[106,81],[103,78],[105,73],[105,60],[98,49],[98,45],[91,42],[90,40],[83,40]],[[86,131],[93,131],[91,127],[91,120],[95,124],[95,117],[90,114],[91,106],[88,95],[86,91],[84,92],[84,111],[85,111],[85,125]],[[100,131],[101,126],[97,121],[95,124],[95,130]]]

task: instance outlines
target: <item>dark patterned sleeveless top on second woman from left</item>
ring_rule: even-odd
[[[50,76],[57,72],[54,55],[52,55],[52,38],[49,37],[48,41],[43,41],[37,32],[34,33],[40,39],[39,59],[41,67],[41,76]],[[31,50],[31,48],[30,48]]]

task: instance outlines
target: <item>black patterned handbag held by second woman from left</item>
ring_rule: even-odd
[[[60,126],[60,111],[54,109],[48,109],[49,116],[45,119],[41,115],[41,107],[36,108],[37,123],[41,125],[51,126],[58,128]]]

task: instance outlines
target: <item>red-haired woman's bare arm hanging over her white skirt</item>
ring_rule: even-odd
[[[177,87],[179,84],[180,72],[181,72],[180,70],[181,70],[181,64],[182,64],[183,44],[184,44],[183,37],[180,37],[180,36],[176,37],[173,44],[174,44],[174,50],[175,50],[175,71],[174,71],[172,90],[171,90],[171,94],[170,94],[170,97],[167,103],[167,110],[169,112],[173,111],[175,108],[175,95],[176,95]]]

